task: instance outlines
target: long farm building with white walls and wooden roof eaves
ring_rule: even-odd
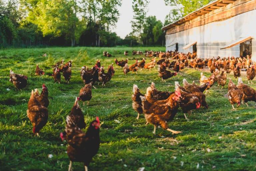
[[[256,0],[217,0],[164,26],[166,51],[200,58],[252,55],[256,61]]]

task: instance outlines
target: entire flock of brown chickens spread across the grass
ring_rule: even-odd
[[[103,52],[103,55],[109,56],[108,52]],[[142,55],[141,51],[133,51],[133,55]],[[125,51],[124,55],[128,55]],[[212,58],[212,59],[200,59],[196,57],[196,53],[178,53],[178,52],[157,52],[146,51],[145,57],[152,57],[149,63],[146,63],[145,58],[140,62],[136,59],[135,63],[128,66],[128,59],[118,61],[114,60],[115,64],[123,68],[123,72],[126,75],[128,72],[136,72],[141,68],[149,69],[155,68],[158,65],[158,76],[162,81],[176,76],[177,73],[184,67],[203,69],[208,67],[212,72],[212,75],[208,78],[203,73],[200,76],[200,85],[188,83],[186,79],[183,79],[183,86],[180,86],[178,82],[175,82],[175,90],[159,91],[156,89],[155,84],[152,82],[151,86],[147,88],[146,94],[140,93],[137,85],[133,85],[132,94],[132,107],[138,113],[137,119],[140,114],[144,114],[146,124],[150,123],[154,125],[153,133],[156,133],[156,127],[161,126],[164,130],[170,131],[173,134],[181,133],[180,131],[174,131],[168,128],[168,121],[173,120],[178,109],[181,108],[184,113],[185,119],[188,120],[186,114],[191,114],[193,110],[199,109],[201,106],[208,108],[206,102],[206,94],[208,90],[216,82],[218,86],[225,86],[227,82],[227,74],[231,71],[234,72],[235,78],[241,76],[240,70],[242,68],[247,69],[247,79],[252,80],[255,77],[255,64],[251,62],[250,56],[247,58]],[[158,59],[157,59],[158,58]],[[72,60],[64,64],[64,60],[57,62],[53,66],[53,74],[51,75],[54,82],[61,82],[61,72],[69,83],[72,71]],[[222,70],[222,71],[221,71]],[[221,72],[220,72],[221,71]],[[87,66],[83,66],[80,70],[80,76],[85,86],[81,88],[79,97],[76,97],[75,103],[71,109],[70,114],[66,119],[66,127],[63,132],[60,133],[60,138],[68,142],[67,154],[70,159],[69,171],[72,168],[72,162],[83,162],[85,170],[92,160],[93,156],[98,152],[100,145],[99,129],[100,120],[98,117],[90,123],[86,132],[81,129],[86,127],[84,122],[84,116],[79,106],[79,101],[89,101],[92,98],[92,87],[96,82],[102,83],[102,86],[111,80],[115,73],[113,63],[108,66],[105,72],[104,67],[101,66],[100,60],[96,61],[96,64],[89,69]],[[45,72],[36,65],[35,75],[41,76]],[[15,74],[10,70],[10,82],[17,89],[22,89],[27,86],[27,76],[21,74]],[[94,87],[95,88],[95,87]],[[206,92],[205,94],[203,92]],[[229,79],[228,83],[228,100],[234,108],[234,104],[239,106],[241,103],[245,103],[247,106],[248,101],[256,102],[256,91],[250,86],[243,83],[241,78],[238,78],[237,86]],[[33,125],[33,133],[39,136],[40,130],[46,125],[48,121],[48,89],[45,84],[42,85],[41,94],[38,89],[31,91],[31,96],[28,102],[27,117]]]

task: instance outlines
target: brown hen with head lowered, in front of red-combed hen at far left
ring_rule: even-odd
[[[28,101],[27,117],[33,125],[33,133],[39,136],[40,130],[47,123],[48,109],[37,100],[33,90]]]

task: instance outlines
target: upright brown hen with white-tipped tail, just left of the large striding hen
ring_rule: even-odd
[[[143,113],[140,96],[144,96],[144,95],[140,93],[140,89],[138,88],[138,86],[136,84],[133,84],[132,108],[136,112],[138,112],[138,116],[136,119],[139,119],[140,114]]]

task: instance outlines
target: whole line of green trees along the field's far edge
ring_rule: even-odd
[[[165,3],[174,6],[178,1]],[[191,9],[172,10],[162,23],[155,16],[146,16],[148,3],[132,0],[133,31],[121,39],[111,27],[119,19],[122,0],[0,0],[0,47],[163,46],[165,33],[161,28]]]

